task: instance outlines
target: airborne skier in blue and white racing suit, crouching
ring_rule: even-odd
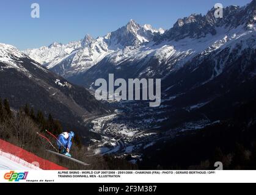
[[[72,146],[72,139],[75,137],[74,132],[63,132],[58,136],[57,145],[59,146],[59,153],[64,154],[68,157],[71,157],[70,155],[70,149]],[[62,149],[64,147],[64,149]]]

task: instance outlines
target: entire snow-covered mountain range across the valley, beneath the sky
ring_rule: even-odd
[[[80,41],[54,43],[24,53],[54,73],[86,87],[109,73],[123,78],[163,78],[197,55],[209,54],[240,35],[254,32],[255,1],[244,7],[226,7],[224,18],[216,19],[214,11],[178,19],[166,31],[131,20],[104,37],[93,39],[86,35]]]

